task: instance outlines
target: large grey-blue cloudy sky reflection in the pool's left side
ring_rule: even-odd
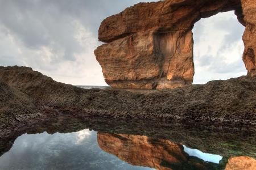
[[[130,165],[101,150],[97,133],[23,134],[0,157],[0,169],[150,169]]]

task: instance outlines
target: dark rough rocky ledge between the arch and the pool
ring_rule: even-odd
[[[144,93],[85,90],[28,67],[0,67],[0,137],[56,115],[255,126],[256,78],[241,76]]]

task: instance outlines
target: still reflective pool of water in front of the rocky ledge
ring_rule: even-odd
[[[254,133],[159,125],[55,120],[17,137],[0,169],[224,169],[230,156],[256,155]]]

